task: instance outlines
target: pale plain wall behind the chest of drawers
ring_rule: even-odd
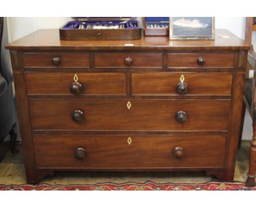
[[[70,20],[72,20],[71,17],[7,17],[8,37],[7,32],[5,32],[4,42],[14,41],[38,29],[59,28]],[[141,21],[141,17],[138,17],[138,20]],[[215,25],[216,29],[228,29],[239,38],[245,39],[246,17],[216,17]],[[256,49],[256,32],[253,32],[252,39],[254,49]],[[6,60],[5,65],[10,67],[9,52],[7,50],[3,50],[2,57]],[[252,120],[249,114],[246,113],[243,139],[251,138]]]

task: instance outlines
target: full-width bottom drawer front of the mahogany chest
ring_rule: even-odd
[[[222,168],[225,141],[225,136],[209,134],[33,136],[37,168]]]

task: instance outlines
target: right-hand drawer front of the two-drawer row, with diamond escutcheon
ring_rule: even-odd
[[[132,74],[133,95],[231,95],[232,74],[150,72]],[[179,85],[179,86],[178,86]]]

